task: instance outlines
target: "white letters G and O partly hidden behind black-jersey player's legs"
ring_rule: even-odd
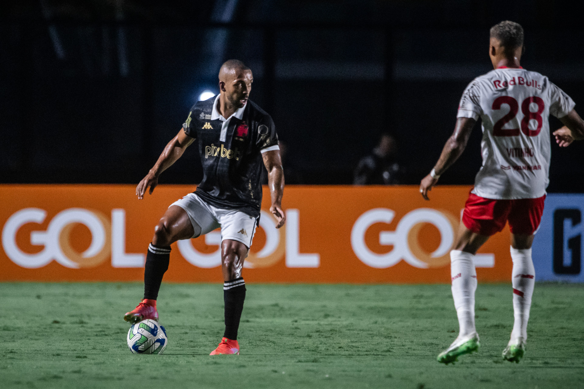
[[[269,257],[276,251],[280,243],[280,231],[276,229],[276,224],[272,220],[272,215],[262,211],[262,217],[259,219],[259,225],[266,233],[266,244],[262,250],[258,251],[258,258]],[[205,244],[208,246],[219,246],[217,251],[210,254],[200,253],[193,247],[190,239],[179,240],[177,242],[180,254],[192,265],[199,268],[214,268],[221,265],[221,233],[211,231],[205,235]],[[244,262],[244,267],[248,267]]]

